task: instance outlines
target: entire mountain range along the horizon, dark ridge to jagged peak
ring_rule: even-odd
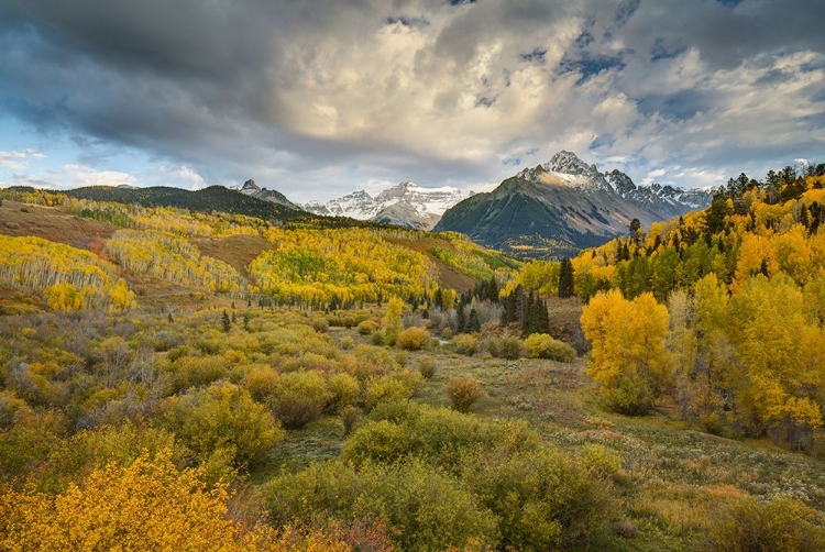
[[[359,221],[455,231],[488,247],[527,257],[572,255],[626,233],[634,219],[649,227],[656,221],[704,209],[713,195],[659,184],[637,186],[620,170],[600,173],[595,165],[565,151],[543,165],[520,170],[486,194],[450,186],[425,188],[405,181],[375,196],[361,190],[300,206],[252,179],[231,189],[94,187],[67,194],[87,199],[245,213],[267,220],[320,216],[333,219],[316,221],[327,220],[338,225]]]

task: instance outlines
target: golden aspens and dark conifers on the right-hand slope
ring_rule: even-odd
[[[825,407],[821,173],[740,175],[705,211],[573,260],[608,406],[667,399],[708,431],[812,444]]]

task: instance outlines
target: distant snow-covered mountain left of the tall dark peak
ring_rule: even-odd
[[[364,190],[354,191],[323,203],[309,202],[304,209],[329,217],[350,217],[430,230],[447,209],[472,195],[472,191],[452,186],[424,188],[414,183],[400,183],[375,197]]]

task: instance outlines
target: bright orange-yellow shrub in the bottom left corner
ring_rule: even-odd
[[[33,488],[0,500],[2,550],[235,550],[243,534],[227,516],[230,492],[178,470],[169,455],[99,467],[56,497]]]

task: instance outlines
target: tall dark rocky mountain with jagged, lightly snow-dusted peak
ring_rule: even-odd
[[[642,227],[704,209],[710,190],[637,186],[620,170],[600,173],[571,152],[526,168],[496,189],[447,210],[435,231],[455,231],[517,256],[572,255]]]

